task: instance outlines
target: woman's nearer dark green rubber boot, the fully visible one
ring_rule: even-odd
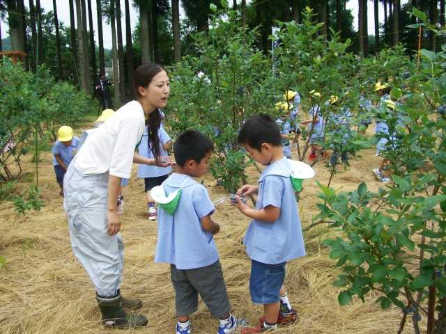
[[[148,323],[144,315],[134,315],[123,310],[120,294],[104,297],[96,294],[99,309],[102,315],[102,325],[109,328],[128,329],[146,326]]]

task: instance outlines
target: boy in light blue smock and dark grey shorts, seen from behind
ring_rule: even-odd
[[[215,211],[206,188],[192,177],[208,170],[213,142],[197,131],[180,134],[174,144],[176,173],[162,182],[166,196],[181,189],[173,214],[163,207],[158,213],[155,262],[170,264],[178,316],[176,334],[190,334],[189,316],[197,311],[198,295],[214,317],[220,319],[217,334],[236,333],[244,320],[231,315],[213,234],[220,225],[212,220]]]

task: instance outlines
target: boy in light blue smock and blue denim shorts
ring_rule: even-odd
[[[259,185],[245,185],[238,195],[258,193],[256,208],[237,198],[236,207],[252,218],[243,243],[251,257],[249,292],[253,303],[263,304],[264,316],[256,328],[240,333],[261,333],[297,319],[284,289],[285,264],[305,255],[298,205],[291,184],[291,165],[284,157],[280,131],[269,116],[255,116],[245,122],[238,142],[254,161],[266,168]]]

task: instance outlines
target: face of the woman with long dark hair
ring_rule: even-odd
[[[169,77],[167,77],[167,73],[164,70],[156,74],[147,87],[139,87],[141,99],[146,100],[146,103],[151,106],[151,109],[153,110],[155,110],[155,108],[163,109],[164,106],[166,106],[169,92]],[[149,112],[153,110],[150,110]]]

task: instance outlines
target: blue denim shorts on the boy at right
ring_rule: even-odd
[[[251,260],[249,292],[255,304],[271,304],[280,300],[279,290],[284,284],[285,264],[265,264]]]

